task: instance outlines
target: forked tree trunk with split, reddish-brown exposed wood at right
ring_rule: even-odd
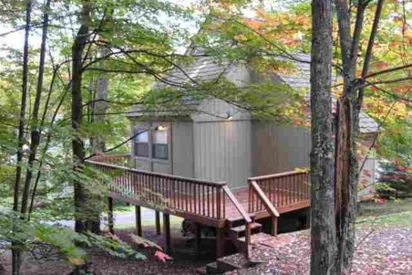
[[[378,30],[383,0],[378,1],[374,23],[363,62],[361,79],[356,80],[356,58],[360,43],[365,13],[364,0],[358,1],[354,34],[350,36],[349,3],[345,0],[336,1],[336,12],[339,21],[339,38],[343,62],[343,97],[339,100],[336,133],[336,241],[338,257],[335,267],[338,274],[350,274],[350,267],[355,249],[356,203],[358,201],[358,158],[356,156],[356,141],[359,137],[359,113],[363,102],[363,89],[357,85],[363,84],[369,71],[372,48]],[[356,93],[358,92],[358,93]]]

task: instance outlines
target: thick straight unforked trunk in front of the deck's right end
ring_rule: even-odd
[[[332,3],[312,1],[312,60],[310,107],[312,151],[310,153],[310,274],[334,274],[336,256],[332,184]]]

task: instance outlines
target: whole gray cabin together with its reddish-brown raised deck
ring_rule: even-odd
[[[300,56],[300,59],[308,56]],[[308,63],[296,74],[272,74],[271,80],[290,89],[308,89]],[[247,65],[194,58],[176,69],[166,83],[225,77],[242,87],[260,81]],[[190,78],[190,79],[189,79]],[[164,87],[157,83],[156,87]],[[332,102],[332,106],[333,106]],[[196,251],[201,251],[203,228],[214,228],[216,257],[227,244],[249,257],[250,245],[277,235],[297,214],[308,226],[310,206],[310,131],[255,118],[225,100],[183,97],[183,104],[147,110],[133,107],[130,120],[132,151],[127,155],[96,155],[86,161],[108,175],[108,221],[113,231],[113,199],[135,205],[137,234],[141,235],[141,207],[156,211],[156,231],[163,217],[165,251],[170,252],[170,215],[194,223]],[[361,113],[366,139],[378,124]],[[366,166],[373,166],[367,162]],[[107,179],[107,177],[105,177]],[[373,180],[369,177],[367,180]],[[284,220],[282,220],[284,219]],[[266,234],[262,232],[266,231]]]

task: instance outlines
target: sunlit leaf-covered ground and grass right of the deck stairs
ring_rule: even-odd
[[[412,274],[412,199],[403,203],[363,204],[356,230],[352,275]],[[378,214],[379,213],[379,214]],[[253,250],[264,261],[229,275],[307,275],[310,270],[310,232],[280,234]]]

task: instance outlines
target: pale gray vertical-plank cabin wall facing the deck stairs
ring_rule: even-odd
[[[251,121],[194,123],[195,177],[247,185],[251,177]]]

